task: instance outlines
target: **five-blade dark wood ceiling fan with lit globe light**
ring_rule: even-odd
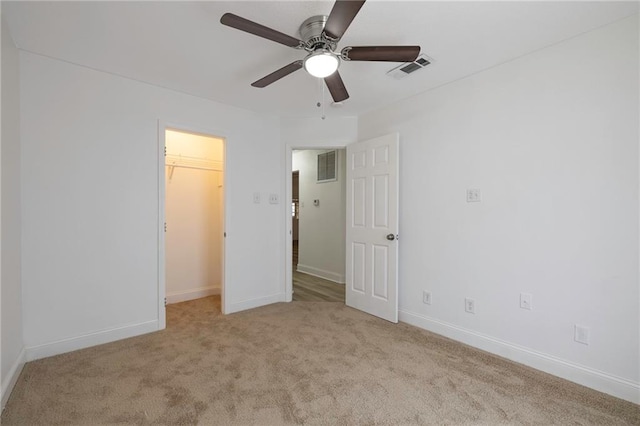
[[[324,79],[334,102],[342,102],[349,98],[349,93],[338,73],[341,60],[413,62],[420,53],[420,46],[347,46],[338,52],[338,42],[364,3],[365,0],[336,0],[329,16],[312,16],[300,25],[302,39],[232,13],[222,15],[220,23],[307,52],[304,59],[293,61],[254,81],[251,83],[253,87],[266,87],[304,68],[312,76]]]

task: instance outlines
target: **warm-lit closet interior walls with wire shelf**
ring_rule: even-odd
[[[224,141],[167,130],[165,146],[167,303],[220,294]]]

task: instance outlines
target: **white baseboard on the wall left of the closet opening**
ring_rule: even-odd
[[[27,361],[59,355],[78,349],[115,342],[159,330],[158,320],[126,325],[109,330],[96,331],[83,336],[71,337],[56,342],[27,347]]]

